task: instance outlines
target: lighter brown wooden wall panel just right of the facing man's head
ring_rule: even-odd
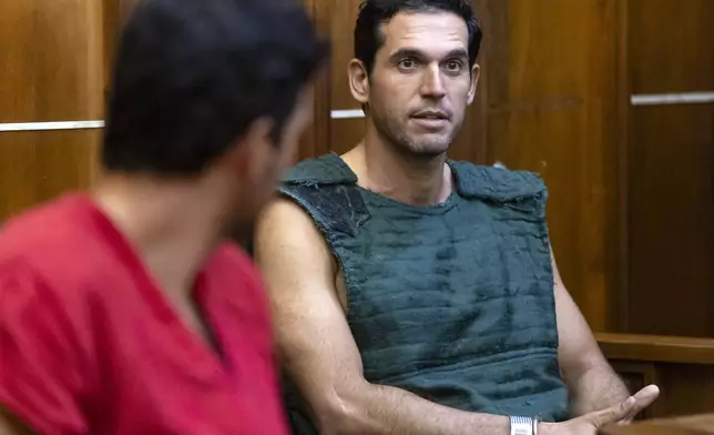
[[[595,330],[618,276],[618,8],[481,0],[488,162],[539,172],[563,280]]]

